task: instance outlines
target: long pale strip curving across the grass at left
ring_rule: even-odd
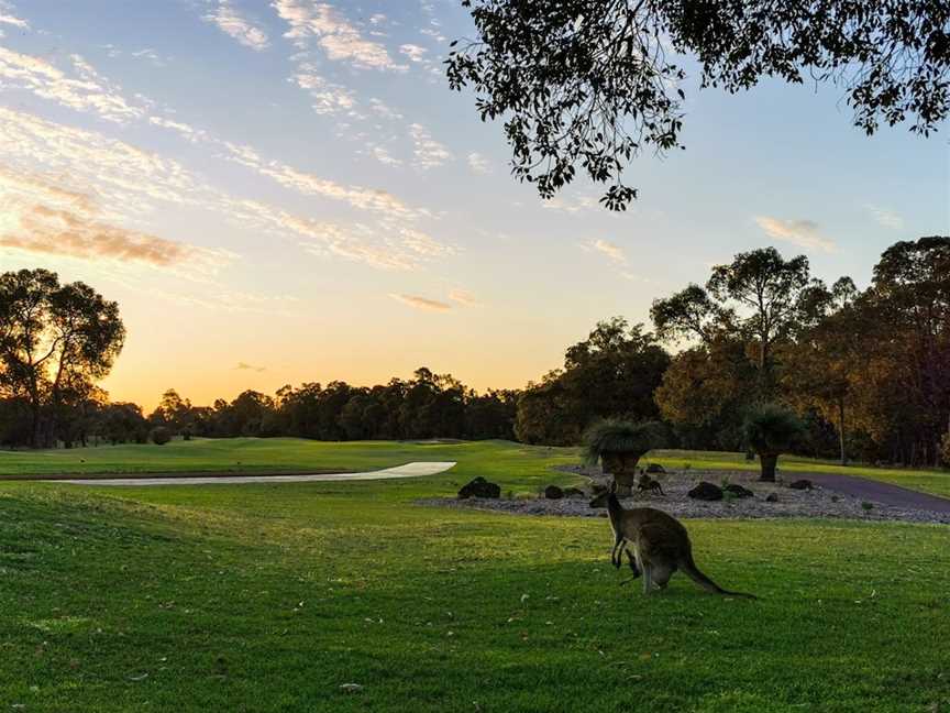
[[[365,473],[319,473],[313,475],[196,475],[187,478],[85,478],[55,480],[47,483],[73,483],[74,485],[219,485],[243,483],[312,483],[324,481],[391,480],[394,478],[420,478],[442,473],[455,465],[455,461],[406,463]]]

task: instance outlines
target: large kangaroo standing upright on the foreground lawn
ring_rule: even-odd
[[[693,561],[689,535],[676,518],[652,507],[626,509],[612,491],[607,497],[607,514],[614,530],[610,562],[620,569],[623,551],[627,550],[633,579],[643,574],[644,594],[650,594],[654,584],[661,590],[666,589],[670,578],[678,569],[707,592],[758,599],[754,594],[723,590],[700,572]],[[632,546],[633,555],[628,546]]]

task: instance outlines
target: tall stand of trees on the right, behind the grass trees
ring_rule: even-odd
[[[864,290],[826,285],[804,255],[740,253],[650,316],[653,332],[601,322],[529,385],[519,438],[574,443],[593,418],[622,416],[662,419],[683,448],[740,450],[745,414],[775,403],[805,421],[799,451],[950,464],[948,237],[892,245]]]

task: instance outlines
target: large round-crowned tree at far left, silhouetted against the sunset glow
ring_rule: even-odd
[[[0,275],[0,381],[29,405],[31,447],[55,442],[55,416],[109,373],[124,339],[119,306],[88,285],[46,270]]]

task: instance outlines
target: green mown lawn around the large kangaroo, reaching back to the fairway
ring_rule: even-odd
[[[220,469],[216,446],[163,453]],[[762,601],[682,577],[644,599],[618,586],[603,519],[412,504],[478,474],[567,483],[549,469],[570,452],[299,445],[280,464],[421,452],[460,463],[389,482],[0,483],[0,711],[950,710],[946,526],[693,520],[699,566]],[[118,449],[99,464],[121,469]]]

